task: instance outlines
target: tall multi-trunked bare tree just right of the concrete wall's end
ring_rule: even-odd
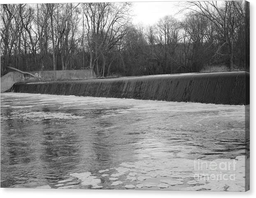
[[[84,4],[86,17],[88,48],[90,53],[90,68],[98,76],[104,76],[105,53],[126,34],[129,3],[88,3]],[[100,71],[99,59],[102,60]]]

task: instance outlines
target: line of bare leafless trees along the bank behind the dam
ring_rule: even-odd
[[[1,76],[91,68],[99,77],[249,69],[249,5],[186,2],[184,18],[134,25],[132,3],[1,5]]]

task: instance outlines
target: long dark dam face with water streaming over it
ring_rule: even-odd
[[[249,104],[249,73],[136,76],[82,81],[16,83],[13,92],[133,98],[212,104]]]

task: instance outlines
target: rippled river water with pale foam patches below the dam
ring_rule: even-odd
[[[244,106],[4,93],[1,187],[244,191],[244,113]],[[225,173],[236,181],[195,180],[195,159],[235,160]]]

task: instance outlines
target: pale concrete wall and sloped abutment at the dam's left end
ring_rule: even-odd
[[[62,80],[84,80],[95,77],[93,69],[79,70],[56,70],[56,71],[29,71],[29,73],[38,76],[35,78],[30,75],[24,75],[19,72],[9,72],[1,77],[1,92],[9,90],[14,83],[28,81],[62,81]]]

